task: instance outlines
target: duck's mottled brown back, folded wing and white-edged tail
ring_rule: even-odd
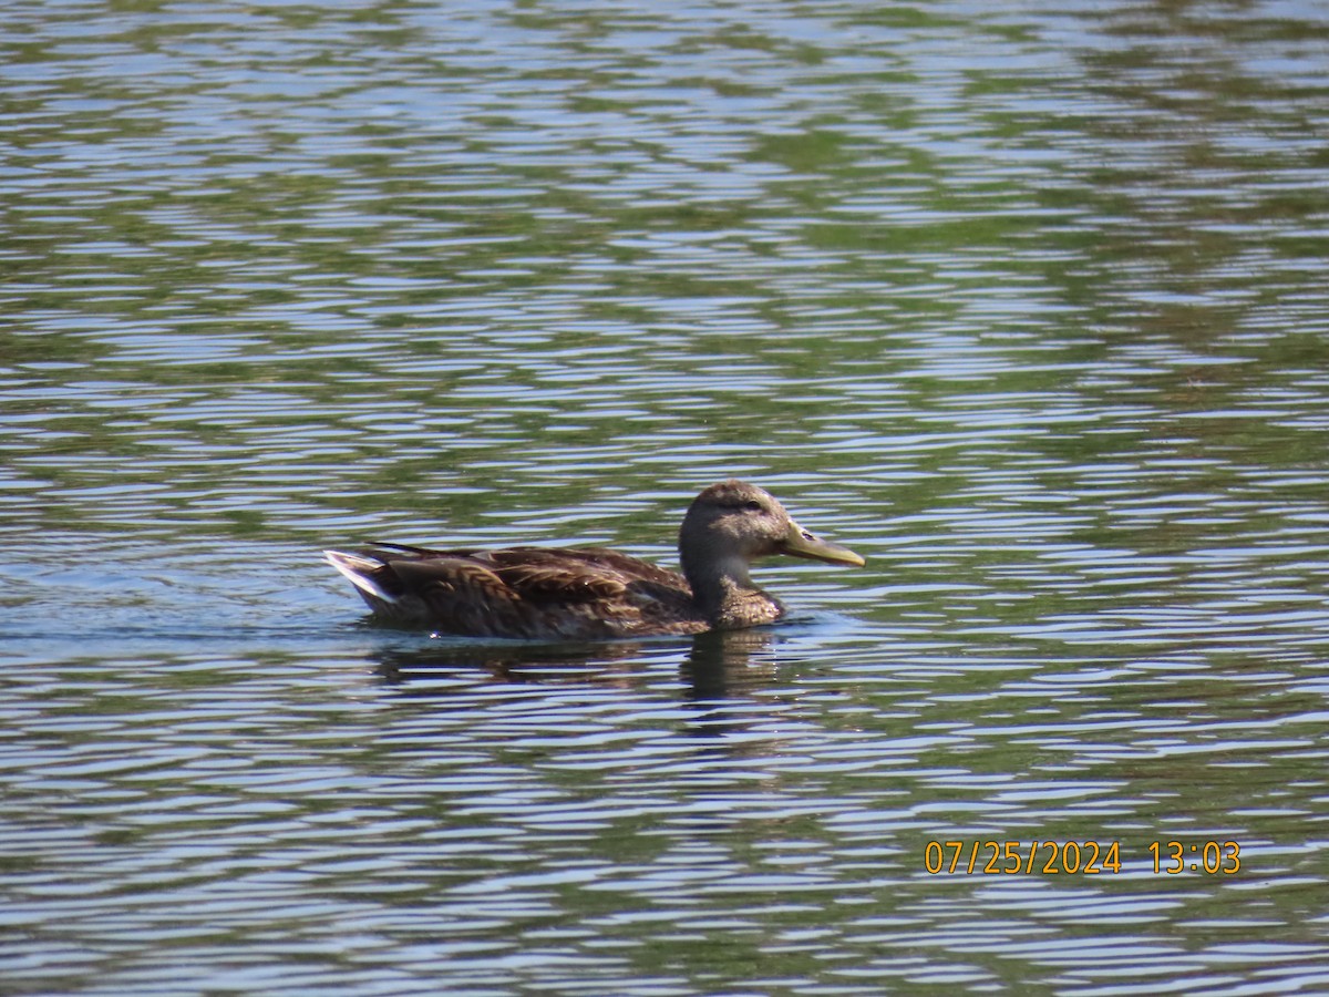
[[[603,639],[707,629],[687,580],[614,550],[431,550],[327,558],[381,619],[464,637]]]

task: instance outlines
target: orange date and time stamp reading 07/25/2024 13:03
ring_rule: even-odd
[[[1241,845],[1236,841],[1150,841],[1144,869],[1175,876],[1199,872],[1232,876],[1241,871]],[[1123,868],[1120,841],[928,841],[924,868],[932,875],[1112,875]]]

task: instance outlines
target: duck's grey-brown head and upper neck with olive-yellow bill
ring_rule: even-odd
[[[692,588],[706,577],[747,582],[759,557],[792,554],[861,568],[864,560],[803,529],[772,496],[747,481],[720,481],[692,500],[678,534],[683,573]]]

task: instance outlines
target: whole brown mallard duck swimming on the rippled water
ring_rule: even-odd
[[[758,557],[792,554],[863,566],[803,529],[746,481],[711,485],[678,534],[683,573],[599,548],[429,550],[375,544],[326,550],[375,615],[462,637],[603,639],[773,623],[784,606],[748,577]]]

